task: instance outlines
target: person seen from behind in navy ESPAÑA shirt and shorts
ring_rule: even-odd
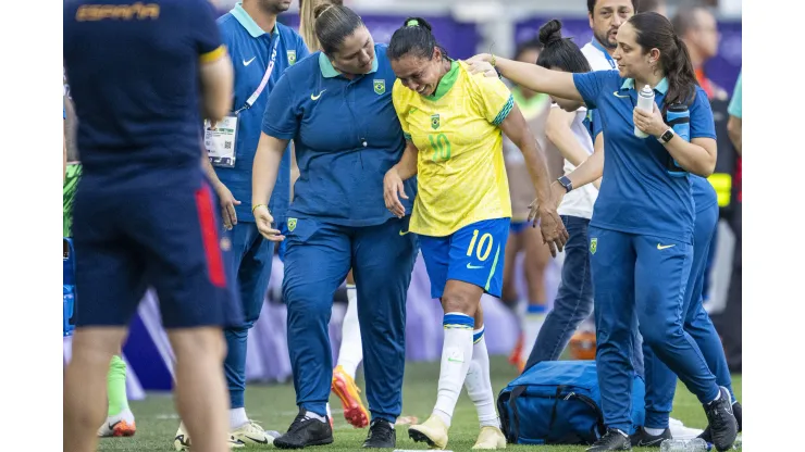
[[[96,450],[107,369],[150,286],[176,355],[177,410],[194,450],[226,451],[235,444],[222,329],[242,313],[201,167],[202,118],[221,121],[232,103],[232,62],[214,11],[206,0],[71,1],[63,21],[83,165],[64,450]]]

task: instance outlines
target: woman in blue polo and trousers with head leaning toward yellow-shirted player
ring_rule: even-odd
[[[269,97],[255,156],[252,211],[260,233],[287,240],[283,298],[299,415],[281,449],[333,441],[326,403],[333,377],[327,324],[333,293],[352,268],[363,338],[366,392],[372,423],[364,447],[394,448],[405,367],[406,294],[417,255],[406,215],[385,208],[383,177],[405,139],[392,103],[395,76],[386,46],[375,45],[346,7],[320,5],[322,50],[288,68]],[[268,201],[294,140],[299,179],[281,235]]]

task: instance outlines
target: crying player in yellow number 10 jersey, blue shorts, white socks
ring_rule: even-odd
[[[474,449],[501,449],[506,439],[495,412],[480,309],[484,292],[500,297],[511,221],[501,134],[523,153],[537,198],[532,217],[552,254],[561,251],[568,235],[550,200],[545,158],[503,81],[470,75],[465,63],[447,56],[422,18],[406,20],[387,55],[397,75],[392,99],[407,146],[386,173],[384,198],[403,215],[403,181],[417,176],[409,231],[419,235],[431,296],[445,312],[436,405],[409,436],[444,449],[465,384],[481,422]]]

